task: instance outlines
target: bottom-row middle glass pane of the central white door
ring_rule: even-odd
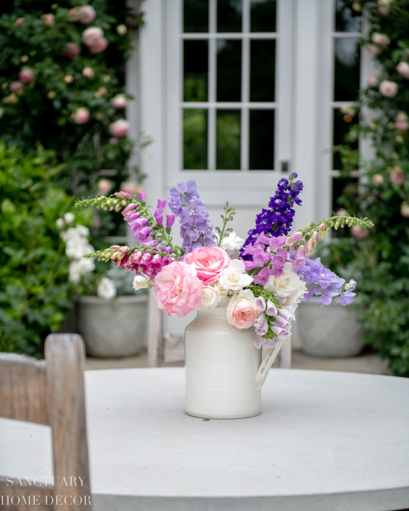
[[[240,110],[216,112],[216,169],[240,169]]]

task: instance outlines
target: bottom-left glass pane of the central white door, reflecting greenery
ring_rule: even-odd
[[[207,110],[183,110],[183,169],[207,169]]]

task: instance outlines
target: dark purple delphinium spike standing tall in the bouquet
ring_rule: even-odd
[[[261,233],[267,237],[277,237],[287,235],[290,232],[294,217],[294,203],[301,204],[298,198],[302,191],[302,181],[293,180],[297,174],[293,172],[289,179],[282,178],[278,181],[277,190],[274,197],[270,198],[269,210],[262,209],[256,216],[256,226],[248,231],[248,238],[245,241],[240,257],[245,260],[251,258],[250,255],[243,252],[249,243],[253,243]]]

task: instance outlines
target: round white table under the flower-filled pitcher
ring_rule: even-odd
[[[95,511],[409,506],[409,379],[273,369],[261,394],[256,417],[203,420],[183,411],[183,368],[87,371]],[[23,426],[31,448],[0,421],[20,439],[0,473],[50,470],[41,427]]]

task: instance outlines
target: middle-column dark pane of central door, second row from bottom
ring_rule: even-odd
[[[217,41],[217,101],[240,101],[242,96],[242,41]]]

